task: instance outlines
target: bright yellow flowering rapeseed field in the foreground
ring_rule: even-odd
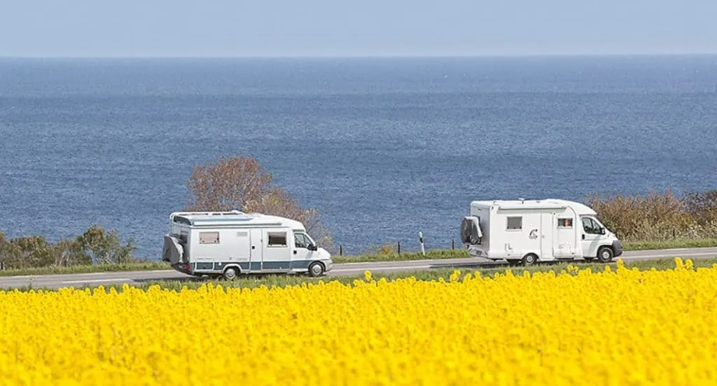
[[[717,264],[0,292],[3,385],[717,384]]]

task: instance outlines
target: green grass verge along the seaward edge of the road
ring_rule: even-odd
[[[710,248],[717,247],[717,239],[678,239],[674,241],[657,242],[635,242],[624,243],[625,251],[645,251],[660,249],[683,249],[683,248]],[[423,256],[416,252],[404,252],[402,254],[362,254],[357,256],[333,256],[334,264],[343,263],[365,263],[377,261],[408,261],[422,259],[460,259],[467,258],[468,252],[465,249],[431,249]],[[98,264],[93,266],[55,266],[43,268],[9,269],[0,271],[0,276],[29,276],[29,275],[51,275],[51,274],[89,274],[96,272],[120,272],[120,271],[155,271],[171,269],[168,264],[161,261],[140,261],[129,264]]]

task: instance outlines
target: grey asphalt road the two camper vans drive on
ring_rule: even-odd
[[[698,249],[664,249],[657,251],[628,251],[621,259],[624,261],[651,260],[681,257],[683,259],[706,259],[717,257],[717,248]],[[371,263],[334,264],[333,269],[326,276],[355,276],[369,270],[373,273],[389,273],[399,271],[421,271],[441,268],[478,268],[490,266],[503,266],[507,263],[493,262],[481,258],[470,259],[439,259],[414,261],[381,261]],[[165,271],[125,271],[100,272],[95,274],[61,274],[61,275],[35,275],[35,276],[0,276],[0,289],[11,289],[32,285],[34,288],[61,288],[74,286],[98,286],[100,284],[130,284],[137,285],[146,281],[156,280],[201,280],[173,270]]]

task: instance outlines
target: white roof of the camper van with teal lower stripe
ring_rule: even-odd
[[[263,213],[227,212],[174,212],[169,221],[185,223],[189,226],[287,226],[292,229],[305,229],[303,223],[290,218],[272,216]]]

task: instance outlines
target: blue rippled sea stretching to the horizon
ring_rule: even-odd
[[[191,168],[251,155],[357,253],[474,199],[717,188],[717,57],[0,59],[0,230],[158,258]]]

